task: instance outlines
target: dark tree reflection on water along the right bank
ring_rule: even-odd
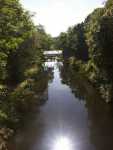
[[[88,112],[90,141],[96,150],[113,149],[113,111],[98,92],[76,71],[64,65],[61,68],[62,83],[67,84],[78,99],[85,101]]]

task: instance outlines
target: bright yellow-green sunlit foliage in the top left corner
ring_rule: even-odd
[[[0,14],[0,50],[9,54],[31,35],[33,24],[18,0],[1,0]]]

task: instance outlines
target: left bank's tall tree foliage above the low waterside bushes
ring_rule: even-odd
[[[0,14],[0,78],[17,84],[25,79],[26,69],[42,65],[52,38],[42,25],[34,26],[32,14],[18,0],[1,1]]]

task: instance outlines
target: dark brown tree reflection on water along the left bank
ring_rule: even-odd
[[[48,100],[48,76],[48,72],[45,71],[35,79],[35,82],[31,87],[33,90],[32,97],[29,96],[32,104],[29,104],[30,109],[29,111],[27,110],[26,117],[21,121],[21,130],[19,130],[14,139],[8,143],[9,150],[30,150],[32,145],[36,143],[37,135],[41,137],[45,132],[43,118],[40,118],[39,116],[41,106],[45,105]],[[26,100],[27,97],[24,96],[24,99]]]

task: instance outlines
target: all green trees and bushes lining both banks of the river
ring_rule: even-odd
[[[34,25],[32,17],[19,0],[0,0],[0,150],[7,149],[28,112],[45,101],[44,50],[63,50],[72,77],[81,73],[106,102],[113,102],[113,0],[56,38]]]

